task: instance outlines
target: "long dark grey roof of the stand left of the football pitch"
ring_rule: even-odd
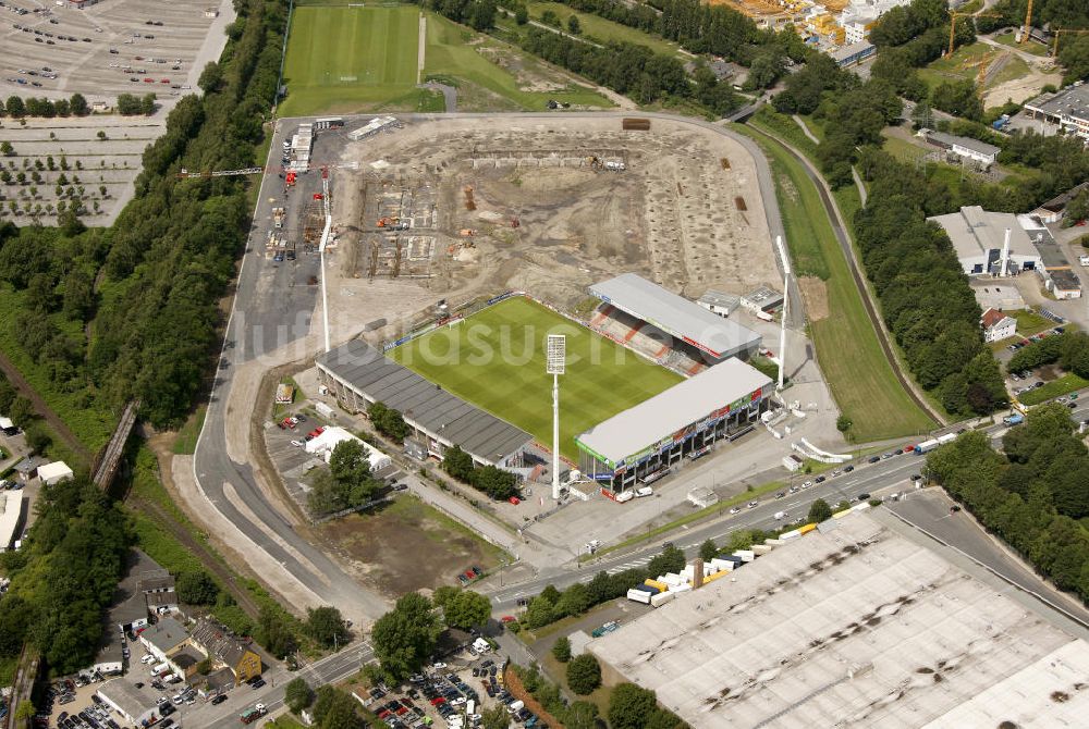
[[[505,458],[534,440],[521,428],[394,362],[363,339],[319,355],[317,362],[369,399],[400,410],[406,421],[481,460]]]

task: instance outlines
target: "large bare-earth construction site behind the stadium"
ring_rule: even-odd
[[[622,272],[690,298],[778,282],[749,152],[695,124],[635,122],[448,118],[329,145],[334,338],[397,336],[441,299],[506,289],[576,310]]]

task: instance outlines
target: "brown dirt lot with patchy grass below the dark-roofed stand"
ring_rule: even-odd
[[[495,547],[407,494],[316,531],[350,560],[358,580],[391,597],[456,585],[466,570],[488,571],[499,564]]]

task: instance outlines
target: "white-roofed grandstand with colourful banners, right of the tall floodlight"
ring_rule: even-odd
[[[699,458],[717,441],[747,432],[773,390],[755,367],[723,360],[578,435],[579,469],[608,496],[657,481],[683,458]]]

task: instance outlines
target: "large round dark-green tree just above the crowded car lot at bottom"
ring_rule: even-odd
[[[397,600],[371,631],[382,670],[395,680],[418,672],[435,652],[441,630],[427,597],[409,593]]]

